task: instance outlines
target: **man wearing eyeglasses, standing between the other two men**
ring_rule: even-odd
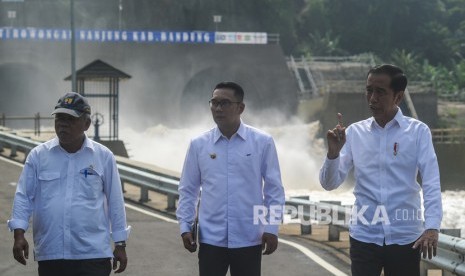
[[[258,276],[261,255],[278,246],[284,189],[273,138],[241,121],[244,91],[216,85],[210,109],[216,127],[192,139],[179,183],[177,217],[184,247],[195,252],[198,210],[200,276]],[[265,221],[256,210],[264,211]],[[276,223],[277,222],[277,223]]]

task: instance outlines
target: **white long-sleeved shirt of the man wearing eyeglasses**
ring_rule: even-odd
[[[241,123],[230,140],[215,127],[191,141],[179,183],[181,233],[191,230],[200,187],[201,243],[239,248],[261,244],[263,232],[278,234],[284,189],[270,135]],[[254,222],[254,206],[276,208],[278,223]]]

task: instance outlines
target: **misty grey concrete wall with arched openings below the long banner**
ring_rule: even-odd
[[[77,69],[95,59],[132,76],[120,83],[120,122],[139,129],[208,115],[211,90],[224,80],[243,85],[249,109],[296,112],[297,86],[279,45],[77,43]],[[70,64],[69,42],[1,41],[0,113],[49,114],[70,90]]]

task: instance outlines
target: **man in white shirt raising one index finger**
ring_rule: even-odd
[[[406,87],[397,66],[370,69],[366,98],[373,117],[346,129],[338,114],[339,123],[326,135],[322,187],[336,189],[354,169],[349,225],[354,276],[380,275],[382,269],[387,276],[420,275],[420,254],[436,255],[442,219],[439,168],[428,126],[398,107]]]

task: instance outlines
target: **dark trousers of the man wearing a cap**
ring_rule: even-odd
[[[108,276],[109,258],[39,261],[39,276]]]

